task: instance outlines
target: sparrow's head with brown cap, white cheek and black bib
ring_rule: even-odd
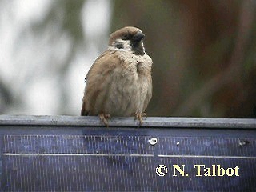
[[[110,34],[109,46],[144,55],[145,49],[142,42],[144,36],[145,34],[142,33],[142,30],[134,26],[125,26]]]

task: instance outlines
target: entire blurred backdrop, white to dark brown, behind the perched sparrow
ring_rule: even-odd
[[[79,115],[111,32],[153,58],[149,116],[256,118],[254,0],[0,0],[0,114]]]

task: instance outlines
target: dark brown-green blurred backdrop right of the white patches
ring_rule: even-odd
[[[256,2],[114,1],[154,60],[152,116],[256,117]]]

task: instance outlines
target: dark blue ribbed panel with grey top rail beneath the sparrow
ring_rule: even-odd
[[[0,117],[2,191],[256,190],[255,120],[106,128],[15,118]]]

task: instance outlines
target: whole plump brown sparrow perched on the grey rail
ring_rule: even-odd
[[[109,47],[90,67],[81,115],[135,116],[142,124],[152,96],[152,59],[145,53],[142,30],[126,26],[110,35]]]

